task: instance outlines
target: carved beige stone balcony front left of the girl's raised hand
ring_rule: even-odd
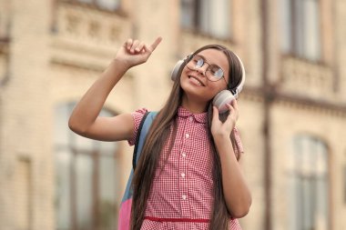
[[[52,25],[52,60],[59,64],[104,69],[130,31],[131,22],[127,16],[57,1]]]

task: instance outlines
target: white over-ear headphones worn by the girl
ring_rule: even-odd
[[[234,55],[236,55],[236,54],[234,54]],[[220,114],[223,114],[223,113],[228,111],[227,104],[229,104],[234,99],[238,98],[239,93],[243,89],[243,85],[245,83],[245,68],[244,68],[244,65],[241,62],[241,59],[239,58],[239,56],[238,55],[236,55],[236,56],[238,57],[238,60],[239,60],[240,66],[241,66],[241,72],[242,72],[241,80],[240,80],[239,85],[237,85],[237,87],[235,88],[235,90],[232,90],[232,91],[234,91],[234,93],[232,93],[229,89],[225,89],[225,90],[220,91],[218,93],[218,95],[216,95],[214,97],[213,105],[218,107]],[[185,66],[183,64],[188,62],[188,61],[189,61],[188,57],[186,57],[185,59],[179,60],[177,62],[177,64],[174,66],[173,71],[170,75],[170,78],[172,79],[172,81],[176,81],[176,79],[178,78],[178,73],[179,73],[181,66]],[[181,71],[180,71],[180,73],[181,73]]]

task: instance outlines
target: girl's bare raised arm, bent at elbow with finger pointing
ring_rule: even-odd
[[[68,126],[78,135],[101,141],[127,140],[133,133],[130,114],[114,117],[98,116],[107,96],[130,67],[147,62],[148,57],[161,42],[158,37],[152,45],[129,38],[117,51],[114,60],[91,85],[76,105],[69,118]]]

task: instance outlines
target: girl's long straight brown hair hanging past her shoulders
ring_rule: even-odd
[[[229,85],[228,89],[233,91],[241,81],[242,69],[239,63],[239,59],[233,52],[229,51],[222,45],[206,45],[199,48],[193,55],[198,54],[205,49],[218,49],[224,53],[229,60]],[[174,139],[177,132],[176,116],[178,113],[178,107],[181,105],[182,96],[184,94],[180,86],[180,75],[188,63],[189,58],[185,60],[178,71],[178,79],[175,81],[172,91],[168,96],[166,105],[159,111],[153,124],[151,125],[148,136],[143,145],[142,153],[140,155],[137,167],[132,180],[132,188],[134,191],[131,207],[130,229],[139,230],[145,215],[147,206],[147,200],[149,191],[152,185],[153,178],[156,173],[158,160],[161,155],[163,145],[169,145],[171,150],[174,145]],[[221,120],[225,120],[228,113],[225,113],[221,117]],[[212,140],[210,133],[211,117],[212,117],[212,105],[209,103],[208,109],[209,116],[209,136]],[[168,139],[169,134],[173,135]],[[234,136],[231,134],[230,139],[234,144]],[[229,212],[225,203],[225,197],[222,189],[221,178],[221,164],[219,159],[219,153],[213,141],[211,141],[211,152],[213,154],[213,178],[214,178],[214,204],[212,209],[212,215],[210,219],[209,229],[219,230],[228,229],[229,225]],[[169,151],[170,152],[170,151]],[[239,154],[237,155],[239,159]]]

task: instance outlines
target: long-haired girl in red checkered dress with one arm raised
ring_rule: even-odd
[[[145,63],[160,42],[128,39],[76,105],[69,127],[78,135],[133,145],[146,109],[98,114],[127,70]],[[224,114],[212,105],[221,90],[236,89],[241,77],[239,57],[221,45],[201,47],[185,59],[137,163],[131,230],[241,229],[237,218],[248,214],[251,195],[238,163],[238,105],[233,100]]]

